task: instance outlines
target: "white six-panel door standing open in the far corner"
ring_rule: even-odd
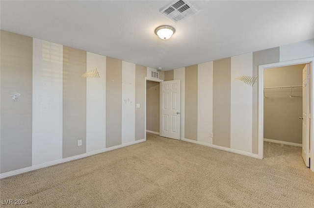
[[[180,139],[180,80],[161,82],[160,136]]]

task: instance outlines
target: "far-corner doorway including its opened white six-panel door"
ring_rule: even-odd
[[[159,92],[157,90],[158,87]],[[145,77],[146,132],[180,140],[180,91],[180,80],[163,81]],[[159,99],[157,97],[158,93]]]

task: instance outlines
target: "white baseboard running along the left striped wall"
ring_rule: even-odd
[[[69,158],[65,158],[65,159],[61,159],[61,160],[57,160],[57,161],[47,162],[47,163],[44,163],[44,164],[34,165],[34,166],[30,166],[30,167],[26,167],[26,168],[22,168],[22,169],[18,169],[18,170],[13,170],[13,171],[6,172],[6,173],[1,173],[0,174],[0,179],[7,178],[7,177],[10,177],[10,176],[14,176],[14,175],[18,175],[18,174],[21,174],[21,173],[26,173],[26,172],[29,172],[29,171],[32,171],[32,170],[37,170],[37,169],[44,168],[44,167],[49,167],[49,166],[52,166],[52,165],[55,165],[55,164],[60,164],[60,163],[63,163],[63,162],[74,161],[74,160],[77,160],[77,159],[80,159],[80,158],[85,158],[85,157],[88,157],[88,156],[96,155],[96,154],[99,154],[99,153],[107,152],[107,151],[118,149],[118,148],[121,148],[121,147],[126,147],[126,146],[129,146],[129,145],[132,145],[132,144],[136,144],[136,143],[139,143],[139,142],[143,142],[143,141],[146,141],[146,139],[139,139],[139,140],[136,140],[136,141],[131,141],[131,142],[125,143],[125,144],[120,144],[120,145],[117,145],[117,146],[108,147],[108,148],[105,148],[105,149],[96,150],[96,151],[93,151],[93,152],[84,153],[84,154],[81,154],[81,155],[77,155],[77,156],[73,156],[73,157],[69,157]]]

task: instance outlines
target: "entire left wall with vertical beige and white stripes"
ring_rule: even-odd
[[[125,74],[134,78],[130,81],[134,97],[127,108],[135,115],[130,117],[129,111],[123,115],[122,60],[2,30],[0,38],[1,175],[145,140],[146,67],[124,62]],[[100,78],[81,78],[95,68]],[[12,102],[12,92],[21,93],[18,102]],[[123,116],[134,125],[132,135],[122,129]],[[48,142],[46,130],[55,132]]]

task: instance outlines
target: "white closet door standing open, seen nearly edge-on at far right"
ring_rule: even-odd
[[[302,87],[302,157],[307,167],[310,166],[310,65],[303,69]]]

